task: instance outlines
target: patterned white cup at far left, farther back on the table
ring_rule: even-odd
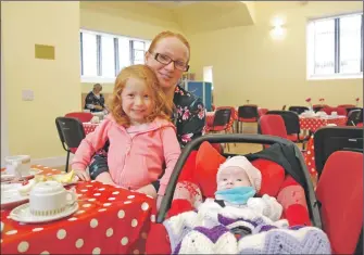
[[[30,171],[30,156],[28,155],[16,155],[7,156],[7,174],[13,175],[17,178],[28,176]]]

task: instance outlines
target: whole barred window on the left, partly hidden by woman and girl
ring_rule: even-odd
[[[114,82],[120,71],[143,64],[151,41],[80,30],[80,68],[84,82]]]

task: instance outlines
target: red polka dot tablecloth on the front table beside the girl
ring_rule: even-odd
[[[33,166],[45,175],[57,169]],[[1,209],[2,254],[143,254],[154,200],[97,181],[78,182],[78,211],[60,220],[22,224]]]

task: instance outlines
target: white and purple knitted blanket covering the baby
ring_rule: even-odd
[[[249,208],[203,203],[198,211],[166,219],[173,254],[330,254],[318,228],[289,227]],[[246,234],[236,235],[237,229]]]

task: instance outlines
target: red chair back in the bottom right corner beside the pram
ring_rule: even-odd
[[[354,254],[363,228],[363,153],[334,152],[318,179],[316,197],[332,253]]]

